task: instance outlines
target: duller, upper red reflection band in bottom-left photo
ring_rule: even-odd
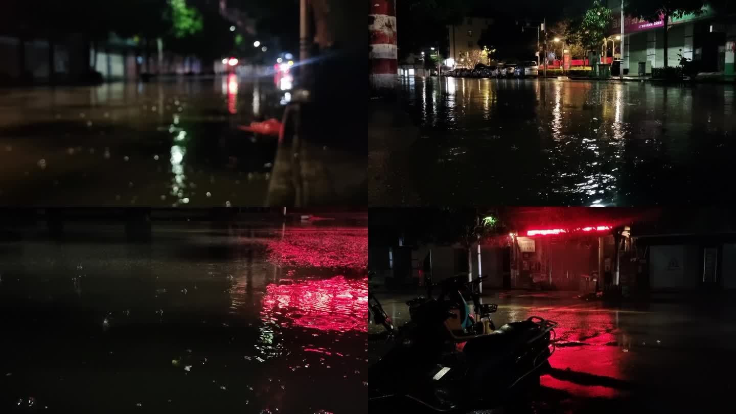
[[[268,242],[271,262],[286,266],[368,266],[366,228],[333,228],[327,231],[287,230],[282,239]]]

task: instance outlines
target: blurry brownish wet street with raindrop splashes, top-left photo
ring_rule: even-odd
[[[281,119],[269,77],[13,88],[0,95],[0,205],[263,206]]]

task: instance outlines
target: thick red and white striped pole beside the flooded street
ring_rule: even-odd
[[[369,0],[371,85],[375,90],[394,89],[397,81],[396,2]]]

